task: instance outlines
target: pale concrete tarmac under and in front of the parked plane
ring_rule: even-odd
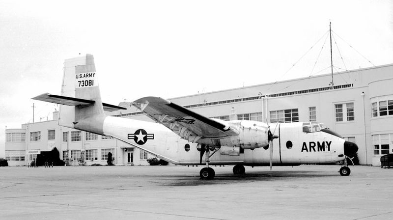
[[[338,165],[0,167],[1,220],[392,220],[393,169]]]

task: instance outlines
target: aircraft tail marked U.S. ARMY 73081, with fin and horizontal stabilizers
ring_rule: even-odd
[[[69,128],[102,134],[105,110],[125,109],[103,104],[93,55],[64,61],[61,95],[44,93],[33,99],[61,104],[58,124]]]

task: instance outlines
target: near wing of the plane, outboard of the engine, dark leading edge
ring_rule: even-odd
[[[207,118],[163,98],[144,97],[132,104],[153,120],[192,142],[199,138],[223,138],[239,134],[224,121]]]

